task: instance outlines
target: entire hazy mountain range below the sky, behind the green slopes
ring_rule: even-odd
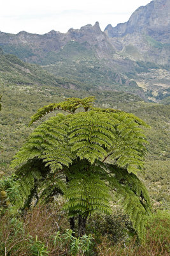
[[[168,12],[169,0],[155,0],[104,32],[99,22],[67,33],[0,32],[0,46],[55,76],[88,84],[84,88],[131,92],[159,102],[170,95]]]

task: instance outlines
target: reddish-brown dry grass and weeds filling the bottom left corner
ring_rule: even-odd
[[[6,214],[1,218],[0,227],[0,255],[1,256],[32,256],[31,243],[41,241],[50,252],[48,255],[67,255],[67,248],[60,244],[53,244],[53,237],[57,231],[69,228],[69,223],[62,212],[62,205],[58,207],[39,206],[25,214],[24,218],[11,218]],[[65,244],[64,244],[65,245]]]

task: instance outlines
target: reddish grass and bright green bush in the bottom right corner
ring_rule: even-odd
[[[146,243],[139,244],[135,237],[126,243],[113,246],[108,237],[102,237],[101,243],[97,244],[97,255],[117,256],[168,256],[169,248],[169,212],[158,211],[152,214],[148,220]]]

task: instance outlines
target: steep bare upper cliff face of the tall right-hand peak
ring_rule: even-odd
[[[146,6],[139,7],[130,19],[115,28],[108,25],[105,31],[110,37],[122,37],[127,34],[143,33],[153,39],[169,43],[170,35],[170,1],[155,0]]]

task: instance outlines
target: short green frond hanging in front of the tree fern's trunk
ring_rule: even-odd
[[[90,214],[94,211],[110,213],[110,189],[105,182],[94,175],[74,177],[67,186],[65,208],[69,212]]]

